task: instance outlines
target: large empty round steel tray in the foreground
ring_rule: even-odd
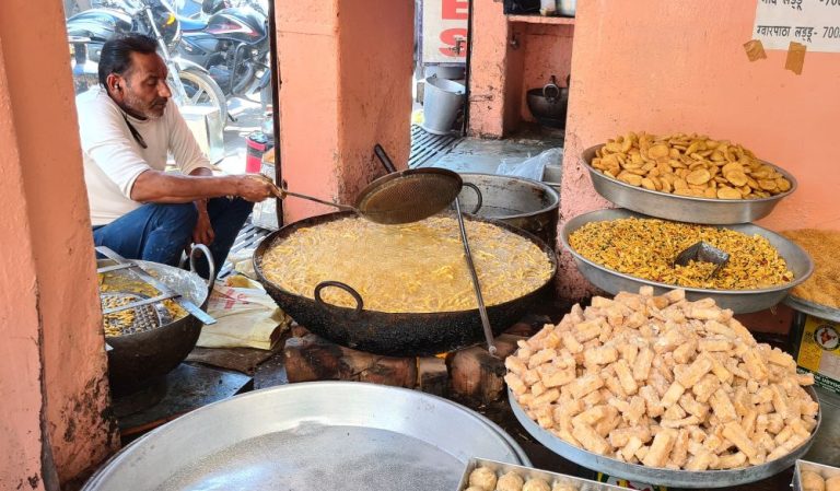
[[[530,465],[499,426],[457,404],[383,385],[316,382],[183,416],[124,448],[83,489],[451,491],[472,456]]]

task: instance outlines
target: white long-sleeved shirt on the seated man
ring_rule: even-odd
[[[131,136],[125,113],[101,86],[80,94],[75,106],[94,226],[106,225],[141,207],[143,203],[130,198],[137,176],[150,168],[164,171],[168,153],[184,175],[199,167],[210,168],[210,161],[172,101],[158,119],[141,120],[126,115],[143,137],[147,149]]]

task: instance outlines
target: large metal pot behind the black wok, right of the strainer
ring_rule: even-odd
[[[464,183],[481,191],[479,217],[499,220],[530,232],[556,250],[560,195],[542,183],[497,174],[462,174]],[[470,189],[458,196],[463,209],[476,207],[478,197]]]

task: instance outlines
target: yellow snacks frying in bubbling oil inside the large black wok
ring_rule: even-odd
[[[550,278],[550,260],[525,237],[483,222],[467,221],[466,227],[486,305],[530,293]],[[261,268],[272,283],[310,299],[322,281],[347,283],[372,311],[477,308],[458,224],[450,217],[404,225],[348,218],[301,229],[269,249]],[[329,304],[355,306],[336,288],[324,289],[322,296]]]

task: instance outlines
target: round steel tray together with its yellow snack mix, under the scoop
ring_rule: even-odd
[[[695,225],[652,219],[623,210],[598,210],[569,220],[560,238],[581,273],[616,294],[653,287],[661,294],[682,288],[689,300],[710,297],[736,314],[770,308],[812,273],[810,257],[788,238],[754,224]],[[698,241],[730,255],[716,265],[676,266],[676,257]]]

